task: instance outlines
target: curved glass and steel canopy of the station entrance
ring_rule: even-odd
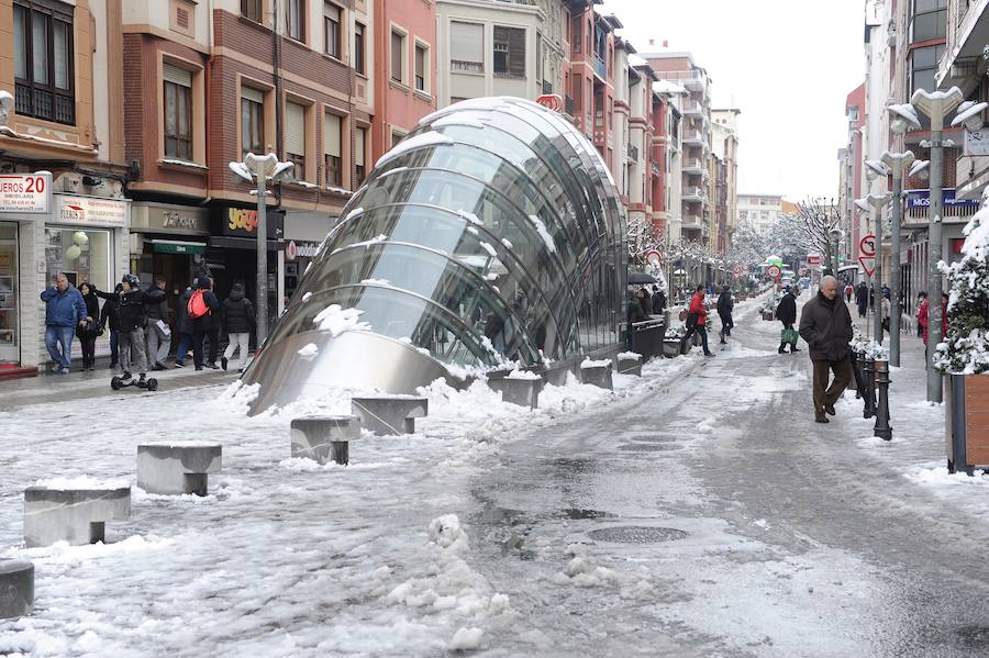
[[[610,172],[566,120],[516,98],[451,105],[378,160],[245,381],[284,403],[301,390],[293,378],[396,390],[429,383],[437,363],[533,366],[618,344],[626,242]],[[310,343],[333,352],[340,335],[318,317],[332,304],[405,347],[408,367],[341,373],[297,359]]]

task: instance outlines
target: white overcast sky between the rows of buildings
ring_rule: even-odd
[[[605,0],[640,53],[689,51],[740,118],[738,191],[838,191],[845,98],[865,80],[863,0]]]

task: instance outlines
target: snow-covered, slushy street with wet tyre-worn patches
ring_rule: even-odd
[[[778,336],[751,301],[716,358],[531,413],[435,383],[415,435],[348,467],[291,459],[289,422],[351,391],[255,417],[225,382],[4,406],[0,557],[37,584],[0,655],[985,656],[989,482],[946,472],[920,341],[886,443],[853,392],[815,425]],[[137,489],[135,446],[186,439],[223,445],[210,494]],[[23,490],[81,476],[129,481],[130,520],[24,548]]]

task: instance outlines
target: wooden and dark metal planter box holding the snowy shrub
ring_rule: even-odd
[[[945,377],[944,402],[948,472],[989,466],[989,373]]]

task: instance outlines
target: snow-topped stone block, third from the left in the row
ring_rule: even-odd
[[[137,446],[137,486],[148,493],[205,495],[208,473],[220,472],[222,447],[210,443]]]

